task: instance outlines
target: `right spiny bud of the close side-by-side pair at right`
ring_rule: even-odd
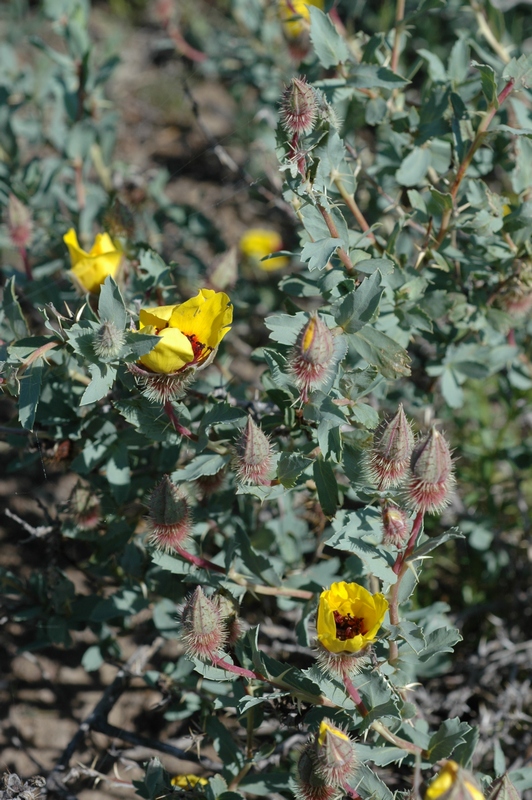
[[[416,511],[435,514],[449,503],[454,485],[453,462],[442,433],[432,428],[414,448],[407,495]]]

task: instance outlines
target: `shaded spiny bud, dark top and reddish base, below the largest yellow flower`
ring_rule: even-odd
[[[185,495],[165,475],[150,497],[150,541],[159,550],[181,547],[190,533],[190,510]]]

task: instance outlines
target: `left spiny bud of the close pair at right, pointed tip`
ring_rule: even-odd
[[[379,490],[395,486],[402,481],[410,463],[414,435],[410,423],[399,405],[389,422],[383,422],[373,436],[369,452],[370,476]]]

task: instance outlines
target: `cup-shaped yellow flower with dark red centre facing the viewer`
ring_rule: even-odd
[[[358,653],[377,636],[388,601],[358,583],[333,583],[320,595],[318,641],[330,653]]]

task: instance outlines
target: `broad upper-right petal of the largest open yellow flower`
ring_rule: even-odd
[[[225,292],[200,289],[196,297],[174,308],[169,325],[214,350],[228,333],[232,321],[233,307]]]

